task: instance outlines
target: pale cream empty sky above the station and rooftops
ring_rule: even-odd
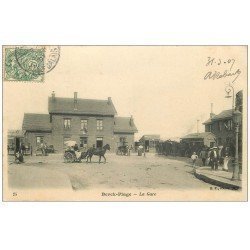
[[[225,70],[236,74],[204,80],[208,72]],[[78,92],[79,98],[112,97],[119,116],[133,115],[136,139],[181,137],[197,132],[197,120],[204,131],[211,103],[214,113],[230,109],[225,86],[245,89],[246,77],[244,46],[61,46],[43,83],[4,81],[4,125],[21,129],[24,113],[48,113],[52,91],[56,97]]]

